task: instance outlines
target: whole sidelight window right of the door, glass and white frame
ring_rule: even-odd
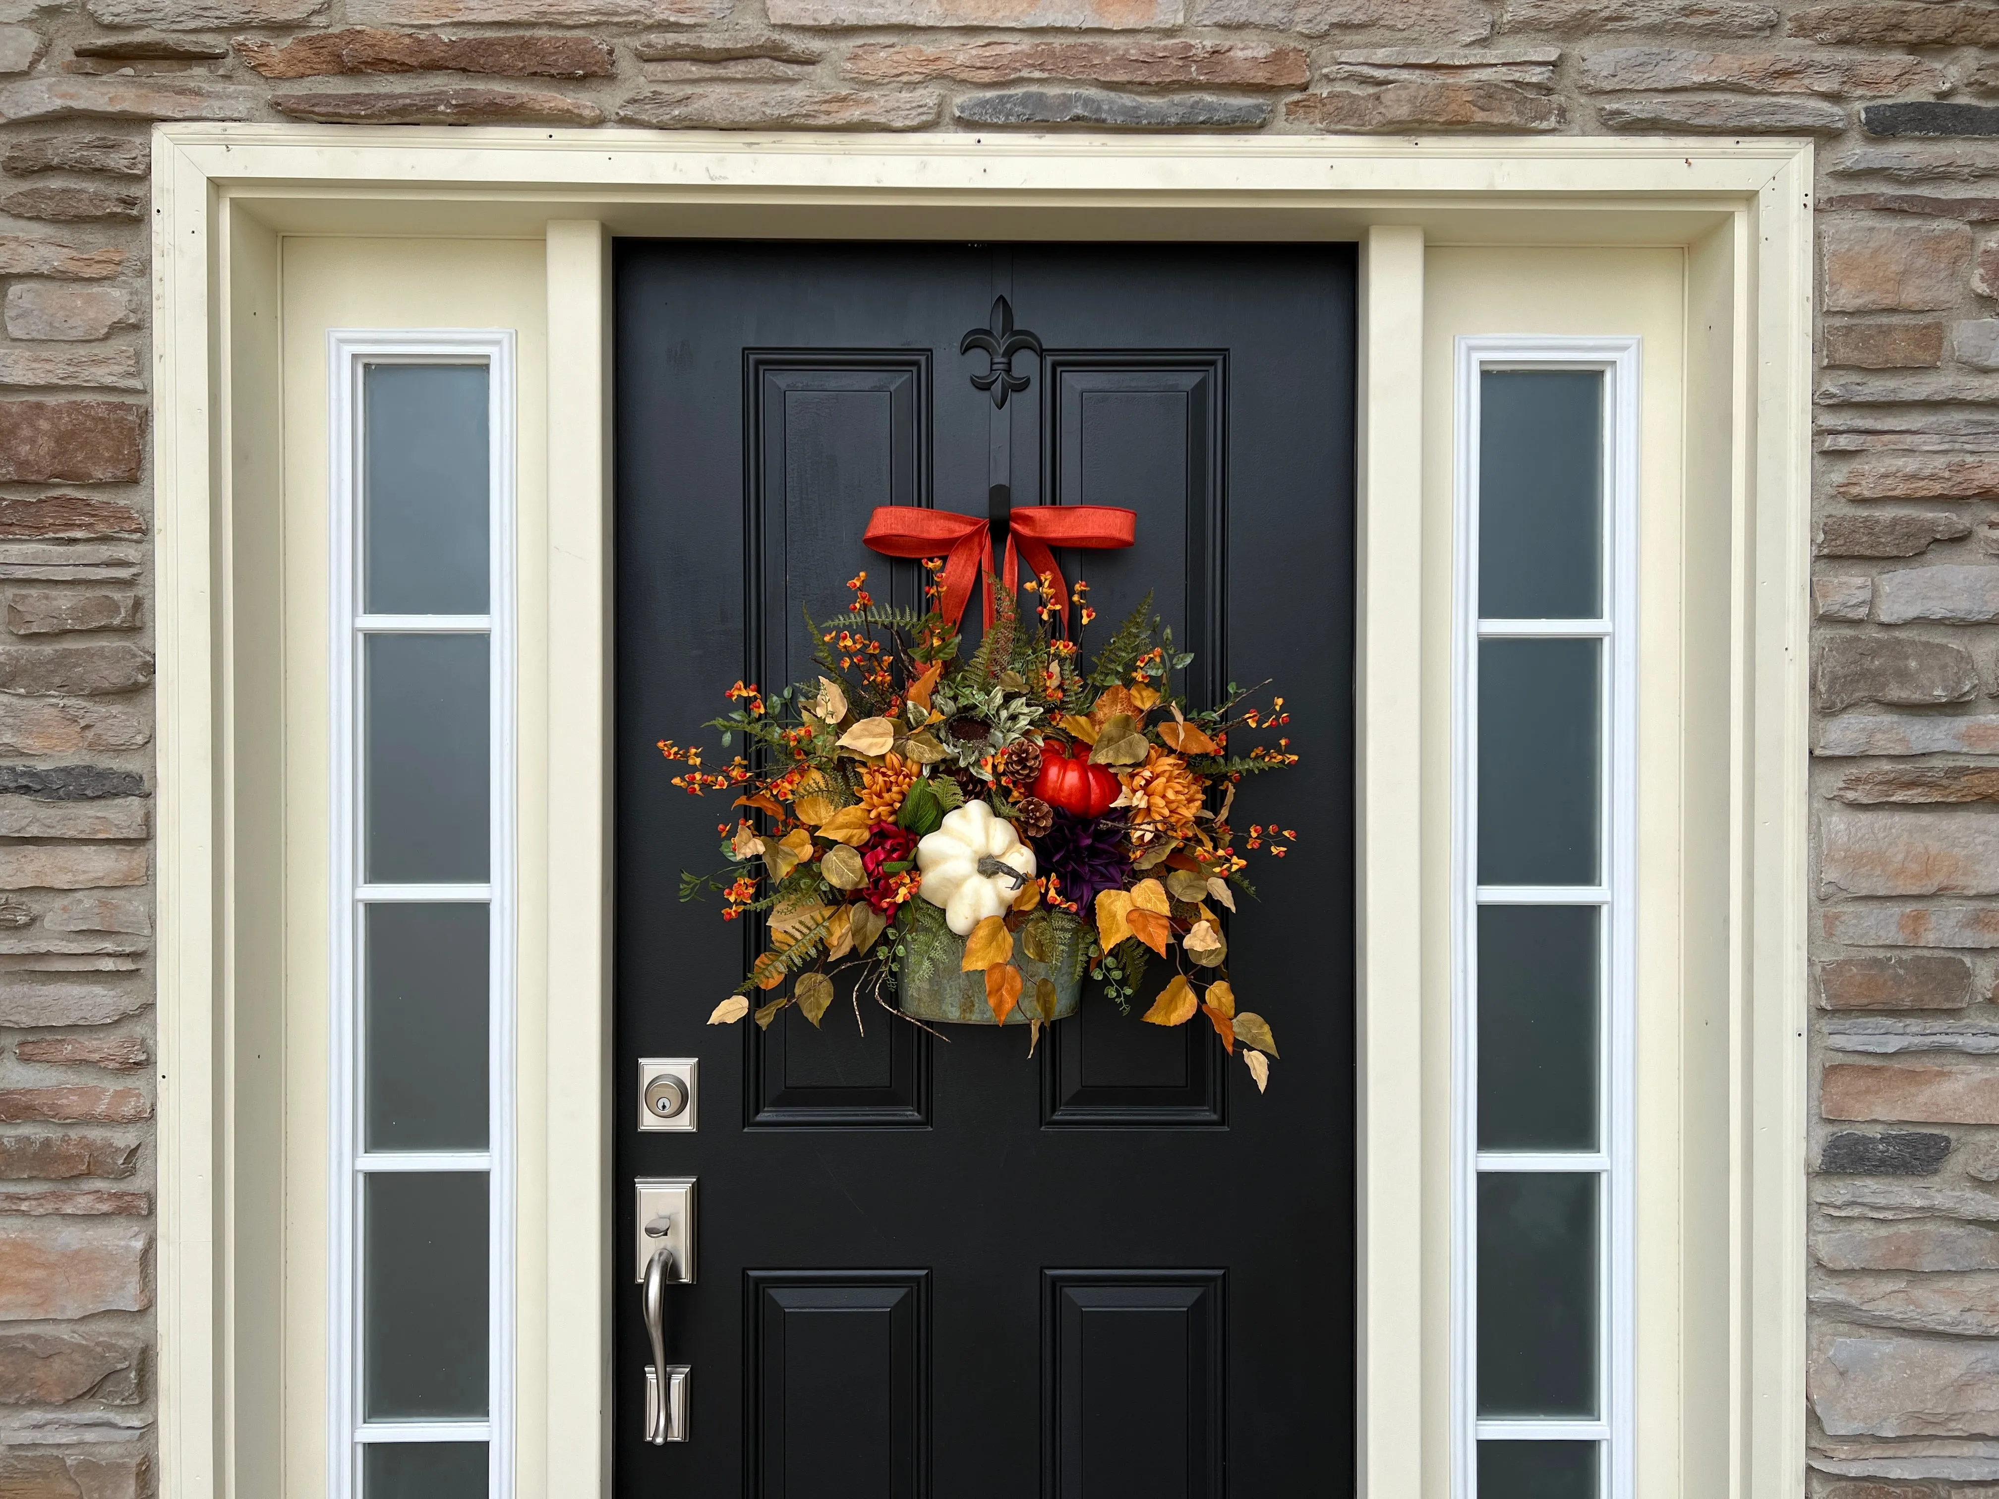
[[[1457,340],[1459,1499],[1631,1493],[1637,340]]]

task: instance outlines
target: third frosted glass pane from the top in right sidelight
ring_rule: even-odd
[[[1595,905],[1479,907],[1479,1149],[1597,1147]]]

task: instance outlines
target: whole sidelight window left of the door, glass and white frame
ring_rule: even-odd
[[[512,334],[330,334],[336,1499],[500,1499]]]

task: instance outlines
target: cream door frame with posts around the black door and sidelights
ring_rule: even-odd
[[[1727,494],[1727,1431],[1731,1495],[1803,1493],[1805,636],[1811,148],[1789,140],[720,136],[162,126],[154,132],[160,642],[160,1479],[246,1493],[264,1371],[240,1311],[274,1275],[248,1207],[270,1083],[248,1065],[274,873],[254,807],[276,546],[280,234],[504,236],[548,250],[550,1007],[540,1211],[546,1401],[518,1491],[608,1493],[608,250],[614,234],[1359,240],[1361,1493],[1437,1493],[1425,1451],[1421,839],[1425,244],[1689,252],[1713,396],[1689,436]],[[1433,947],[1433,939],[1429,939]],[[1425,963],[1431,969],[1425,969]],[[560,1085],[558,1085],[560,1083]],[[524,1121],[526,1127],[526,1121]]]

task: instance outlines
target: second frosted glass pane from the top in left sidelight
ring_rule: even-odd
[[[486,636],[368,636],[370,881],[484,881],[488,869]]]

